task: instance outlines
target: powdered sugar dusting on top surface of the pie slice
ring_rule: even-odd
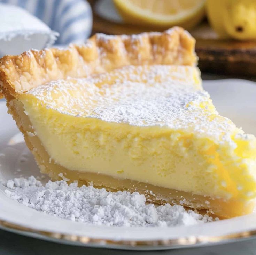
[[[52,81],[27,93],[73,116],[168,126],[229,142],[235,129],[216,112],[195,67],[126,66],[89,78]]]

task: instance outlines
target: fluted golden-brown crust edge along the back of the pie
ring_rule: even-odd
[[[51,80],[87,77],[125,65],[174,64],[194,66],[195,40],[183,28],[139,35],[96,34],[85,44],[66,49],[30,50],[0,59],[0,98],[17,94]]]

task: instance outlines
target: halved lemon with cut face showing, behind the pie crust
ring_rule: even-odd
[[[204,17],[205,0],[113,0],[125,22],[189,29]]]

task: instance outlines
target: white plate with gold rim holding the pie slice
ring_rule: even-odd
[[[245,80],[204,81],[220,114],[248,133],[256,134],[256,83]],[[18,159],[27,153],[5,102],[0,102],[0,177],[40,175],[31,154],[27,165]],[[14,138],[13,138],[14,137]],[[12,138],[12,139],[11,139]],[[8,141],[11,139],[9,145]],[[17,168],[21,172],[15,172]],[[0,187],[0,227],[35,238],[75,245],[118,249],[156,250],[219,244],[256,235],[256,214],[207,224],[173,228],[94,226],[46,215],[8,198]]]

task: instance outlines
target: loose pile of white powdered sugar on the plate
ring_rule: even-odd
[[[48,181],[42,183],[30,176],[4,183],[8,197],[30,208],[72,221],[109,226],[178,226],[213,221],[183,206],[170,204],[155,207],[147,204],[138,192],[108,192],[77,183]]]

